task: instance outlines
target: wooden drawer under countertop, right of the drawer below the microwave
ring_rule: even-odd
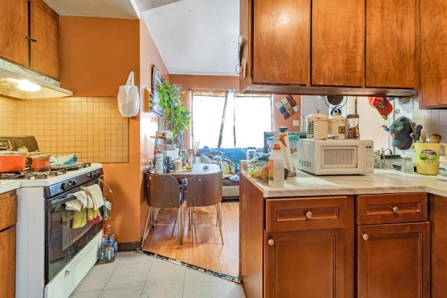
[[[427,221],[426,193],[358,195],[357,224]]]

